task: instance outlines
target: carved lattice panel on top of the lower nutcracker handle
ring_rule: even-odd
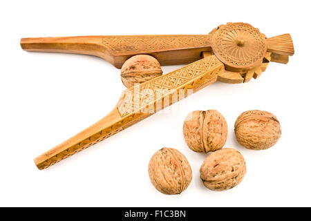
[[[156,106],[156,101],[159,99],[171,99],[169,96],[173,93],[179,95],[179,90],[187,93],[189,89],[196,90],[205,86],[209,81],[216,81],[217,75],[223,70],[223,63],[215,55],[200,59],[167,75],[125,90],[117,109],[122,117],[133,112],[139,113],[149,104]]]

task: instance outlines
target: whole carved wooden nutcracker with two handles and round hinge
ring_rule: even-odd
[[[26,38],[21,39],[21,47],[28,51],[96,55],[116,68],[133,55],[151,55],[161,65],[187,64],[124,90],[109,115],[36,157],[39,169],[140,122],[187,97],[189,91],[196,92],[215,81],[243,83],[256,79],[270,61],[287,64],[288,56],[294,55],[289,34],[267,38],[247,23],[227,23],[209,35]]]

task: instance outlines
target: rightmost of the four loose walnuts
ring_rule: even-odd
[[[267,111],[245,111],[234,124],[236,140],[246,148],[265,150],[281,137],[281,126],[272,113]]]

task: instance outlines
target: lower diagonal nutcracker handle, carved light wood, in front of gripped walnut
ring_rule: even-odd
[[[38,169],[46,169],[140,122],[162,108],[215,82],[225,66],[215,55],[205,57],[171,73],[124,90],[117,106],[99,122],[35,158]]]

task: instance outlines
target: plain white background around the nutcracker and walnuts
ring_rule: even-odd
[[[0,206],[311,206],[309,1],[1,1]],[[120,70],[98,57],[25,52],[21,37],[207,34],[229,21],[252,24],[267,37],[290,33],[295,55],[272,63],[247,84],[216,82],[157,113],[39,171],[37,155],[101,119],[125,87]],[[164,73],[180,66],[164,66]],[[200,181],[205,154],[192,152],[183,120],[216,109],[227,119],[225,147],[243,153],[247,174],[224,192]],[[243,111],[270,111],[282,137],[267,151],[236,142]],[[188,189],[163,195],[148,163],[162,147],[177,148],[193,171]]]

